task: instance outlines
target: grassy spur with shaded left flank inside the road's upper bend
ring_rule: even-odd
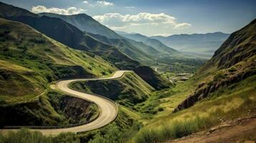
[[[120,79],[75,82],[70,87],[82,92],[100,94],[126,107],[145,101],[154,90],[133,71],[125,73]]]

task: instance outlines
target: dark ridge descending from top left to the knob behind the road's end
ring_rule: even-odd
[[[10,9],[11,11],[9,11]],[[9,12],[13,13],[12,15],[15,16],[10,16]],[[126,54],[123,54],[115,46],[110,46],[98,41],[90,35],[84,34],[84,32],[80,31],[80,29],[77,29],[77,27],[63,21],[62,19],[48,16],[37,16],[32,14],[30,11],[1,2],[0,15],[5,19],[20,21],[24,24],[28,24],[34,29],[37,29],[37,31],[42,32],[42,34],[60,41],[62,44],[66,44],[73,49],[88,51],[89,53],[93,53],[92,55],[96,54],[101,56],[118,69],[131,69],[137,71],[136,73],[146,82],[148,82],[148,84],[151,84],[151,86],[155,89],[168,87],[167,82],[165,82],[162,77],[157,75],[153,69],[145,68],[145,66],[140,64],[138,61],[135,61]],[[141,69],[146,71],[140,72]]]

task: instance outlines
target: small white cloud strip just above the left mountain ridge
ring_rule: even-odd
[[[85,9],[77,9],[76,7],[69,7],[67,9],[60,9],[57,7],[47,8],[45,6],[33,6],[32,12],[41,13],[41,12],[49,12],[54,14],[63,14],[63,15],[72,15],[72,14],[80,14],[84,12]]]

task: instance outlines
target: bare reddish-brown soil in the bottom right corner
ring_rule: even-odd
[[[256,116],[222,122],[212,129],[169,142],[247,142],[256,141]]]

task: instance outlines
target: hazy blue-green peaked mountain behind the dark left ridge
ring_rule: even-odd
[[[111,46],[118,47],[120,51],[123,51],[123,53],[138,61],[153,62],[157,56],[161,56],[163,54],[180,54],[178,51],[166,46],[158,46],[158,44],[149,45],[153,42],[145,44],[141,43],[141,41],[137,41],[136,39],[127,39],[127,37],[120,36],[115,33],[115,31],[108,29],[108,27],[100,24],[98,21],[95,21],[95,19],[86,14],[65,16],[60,14],[41,13],[39,15],[60,18],[67,23],[77,26],[80,30],[86,31],[88,35],[93,36],[95,39]]]

